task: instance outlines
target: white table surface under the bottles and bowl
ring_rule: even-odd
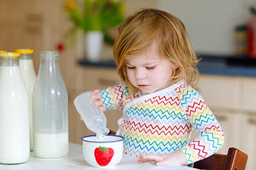
[[[104,168],[95,168],[87,164],[83,157],[83,146],[75,143],[69,143],[69,153],[67,157],[58,159],[40,159],[36,158],[33,152],[30,152],[28,161],[24,164],[19,165],[0,165],[0,170],[99,170]],[[154,169],[154,170],[195,170],[186,166],[156,166],[153,163],[141,163],[137,164],[136,158],[129,155],[124,155],[121,162],[117,165],[105,168],[109,170],[143,170],[143,169]]]

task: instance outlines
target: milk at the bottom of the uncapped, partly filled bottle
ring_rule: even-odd
[[[60,158],[68,154],[68,132],[34,133],[34,155],[38,158]]]

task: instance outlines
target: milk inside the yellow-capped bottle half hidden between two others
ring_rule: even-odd
[[[33,60],[25,59],[19,60],[20,63],[20,73],[22,75],[23,81],[26,85],[29,99],[29,139],[30,139],[30,151],[33,150],[33,109],[32,109],[32,95],[33,89],[36,81],[36,73],[34,70]]]

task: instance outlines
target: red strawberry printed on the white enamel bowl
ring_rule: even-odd
[[[107,166],[114,156],[114,150],[107,147],[98,147],[94,150],[94,157],[100,166]]]

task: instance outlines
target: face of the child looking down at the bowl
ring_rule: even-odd
[[[171,86],[173,70],[178,68],[177,64],[163,60],[157,48],[154,41],[145,53],[132,56],[126,64],[129,81],[146,94]]]

